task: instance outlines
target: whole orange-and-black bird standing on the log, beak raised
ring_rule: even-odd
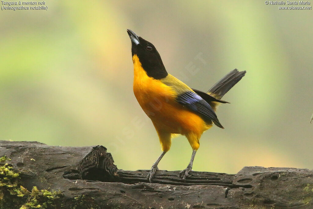
[[[180,172],[183,179],[191,176],[193,159],[199,148],[202,133],[222,124],[215,114],[223,95],[244,76],[246,71],[237,69],[219,80],[207,93],[190,88],[167,73],[161,56],[153,44],[127,29],[131,39],[131,55],[134,64],[133,90],[143,111],[151,119],[162,146],[162,154],[152,165],[148,175],[152,180],[157,165],[171,147],[171,138],[176,134],[187,137],[192,147],[192,156],[186,169]]]

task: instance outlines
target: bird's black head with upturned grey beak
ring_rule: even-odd
[[[131,38],[131,55],[137,55],[142,68],[149,77],[154,79],[165,78],[168,74],[163,65],[161,56],[153,44],[138,37],[132,30],[127,29]]]

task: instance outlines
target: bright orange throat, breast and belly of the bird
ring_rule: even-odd
[[[134,55],[133,90],[137,101],[153,124],[169,133],[186,135],[200,133],[211,128],[201,117],[175,101],[172,87],[146,75],[137,56]]]

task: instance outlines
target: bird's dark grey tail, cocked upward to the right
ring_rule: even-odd
[[[229,89],[231,89],[242,77],[246,71],[239,72],[237,69],[230,71],[226,76],[219,80],[214,86],[207,92],[217,99],[221,99]]]

